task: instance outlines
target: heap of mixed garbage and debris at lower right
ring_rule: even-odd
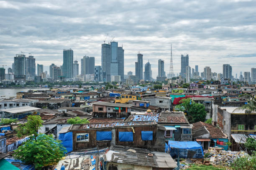
[[[209,155],[207,158],[210,158],[210,163],[212,165],[223,165],[223,166],[230,166],[236,158],[241,158],[246,155],[244,151],[225,151],[225,150],[216,150],[215,148],[210,148],[208,150]]]

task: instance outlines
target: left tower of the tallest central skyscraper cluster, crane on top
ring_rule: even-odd
[[[110,44],[101,45],[101,68],[102,68],[102,81],[110,82]]]

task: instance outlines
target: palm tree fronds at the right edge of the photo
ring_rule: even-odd
[[[241,94],[239,97],[244,97],[247,103],[241,107],[236,108],[236,110],[248,110],[250,112],[256,112],[256,97],[251,94]]]

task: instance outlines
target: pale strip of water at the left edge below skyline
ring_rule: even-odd
[[[0,88],[0,99],[16,97],[17,92],[28,92],[28,90],[48,90],[49,88]]]

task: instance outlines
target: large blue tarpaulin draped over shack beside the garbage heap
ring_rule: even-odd
[[[195,141],[179,142],[179,141],[168,141],[168,150],[172,157],[179,158],[204,158],[204,152],[202,146]]]

